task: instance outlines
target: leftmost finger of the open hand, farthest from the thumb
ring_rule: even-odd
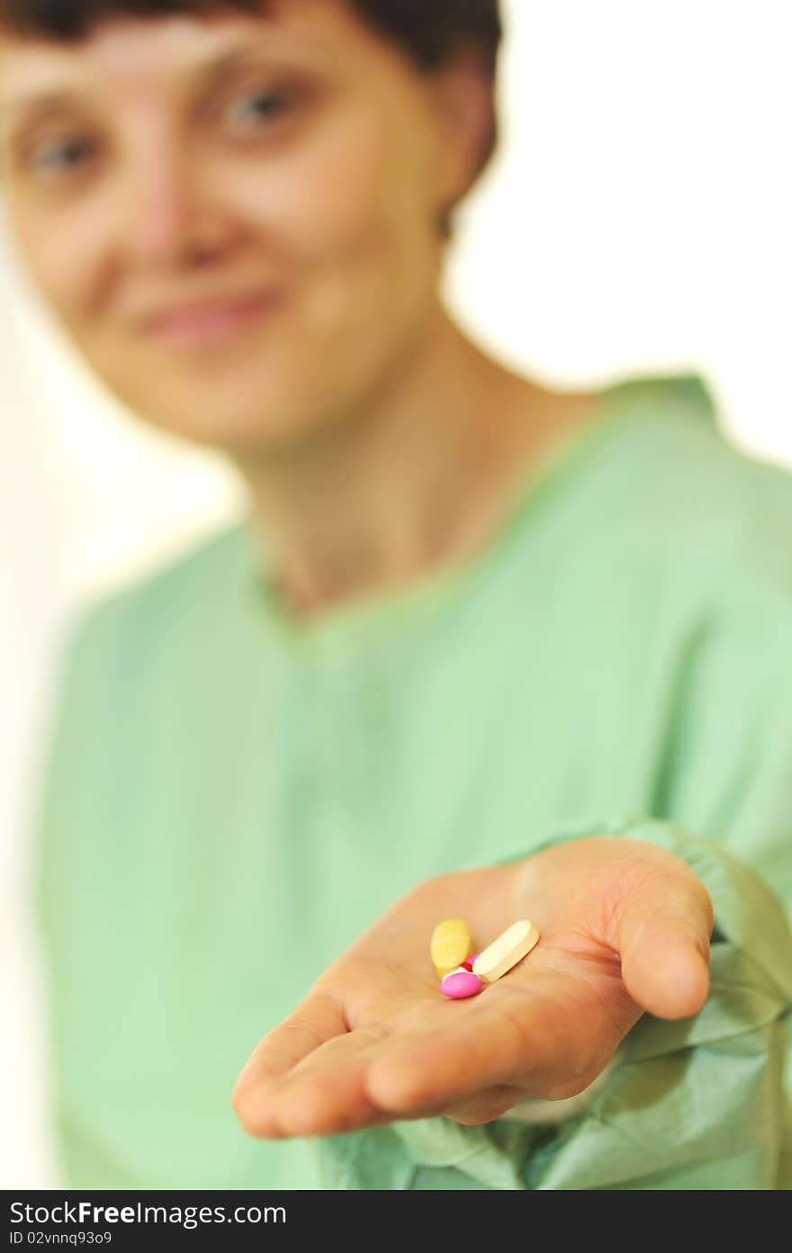
[[[251,1135],[278,1138],[272,1095],[283,1076],[335,1036],[345,1035],[343,1006],[326,994],[308,996],[253,1049],[232,1093],[232,1106]]]

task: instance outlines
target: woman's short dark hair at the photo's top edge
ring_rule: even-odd
[[[494,76],[501,40],[500,0],[348,0],[397,40],[417,65],[436,69],[459,46],[479,51]],[[0,26],[63,41],[85,38],[105,18],[155,18],[223,10],[257,13],[266,0],[0,0]]]

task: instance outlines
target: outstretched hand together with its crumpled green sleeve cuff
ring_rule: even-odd
[[[708,893],[722,905],[716,995],[697,1012]],[[503,928],[504,902],[506,921],[538,922],[540,945],[500,985],[444,1002],[426,952],[431,926],[459,913],[489,937]],[[330,1134],[320,1152],[331,1187],[365,1187],[372,1164],[370,1187],[449,1169],[462,1187],[624,1187],[713,1155],[734,1157],[742,1179],[747,1157],[748,1185],[773,1187],[789,970],[777,903],[713,842],[653,822],[558,833],[523,862],[442,876],[397,902],[264,1037],[237,1084],[237,1111],[252,1134]],[[531,1157],[535,1128],[490,1121],[526,1096],[580,1091],[625,1037],[571,1140],[569,1128],[554,1135],[555,1152]],[[776,1130],[754,1143],[764,1118]],[[368,1129],[362,1139],[377,1153],[335,1135],[350,1129]]]

